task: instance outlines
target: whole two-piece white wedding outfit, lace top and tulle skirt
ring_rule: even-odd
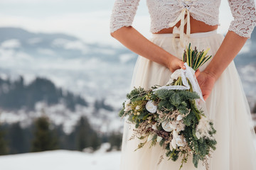
[[[182,2],[182,3],[181,3]],[[206,33],[183,33],[183,26],[189,24],[185,14],[191,15],[199,21],[205,21],[208,25],[218,24],[218,6],[220,0],[178,1],[178,0],[148,0],[149,13],[151,14],[151,32],[157,32],[162,28],[175,25],[181,20],[181,26],[174,29],[174,34],[154,34],[150,39],[167,52],[182,59],[184,45],[191,42],[192,48],[206,50],[210,47],[208,55],[215,55],[224,36],[217,34],[216,30]],[[233,0],[230,8],[235,20],[230,24],[229,30],[240,36],[250,37],[256,24],[256,12],[254,1]],[[139,0],[116,0],[112,19],[111,32],[131,26]],[[216,10],[217,8],[217,10]],[[161,12],[164,11],[164,12]],[[176,19],[177,18],[177,19]],[[159,21],[160,20],[160,21]],[[184,21],[184,23],[182,23]],[[171,25],[170,25],[171,24]],[[179,38],[176,38],[179,37]],[[201,71],[207,67],[211,60],[206,62]],[[134,67],[131,90],[134,86],[142,86],[149,89],[156,84],[164,86],[171,76],[166,67],[139,56]],[[223,74],[215,82],[213,91],[206,100],[208,118],[214,122],[218,142],[217,149],[211,154],[210,170],[256,170],[256,149],[253,145],[255,133],[250,117],[250,108],[242,89],[240,77],[235,64],[232,61]],[[127,120],[127,118],[125,118]],[[122,140],[122,162],[120,169],[124,170],[178,170],[181,160],[176,162],[164,157],[158,164],[165,150],[159,145],[149,148],[150,142],[142,149],[137,149],[139,139],[129,140],[132,136],[134,125],[124,122],[124,134]],[[191,157],[183,166],[185,170],[196,169]],[[205,169],[198,164],[198,169]]]

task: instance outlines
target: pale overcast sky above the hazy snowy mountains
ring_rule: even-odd
[[[0,26],[25,28],[33,32],[68,33],[85,42],[119,45],[110,36],[110,15],[114,0],[1,0]],[[233,17],[227,0],[220,5],[218,33],[226,33]],[[141,0],[134,28],[150,38],[146,0]]]

